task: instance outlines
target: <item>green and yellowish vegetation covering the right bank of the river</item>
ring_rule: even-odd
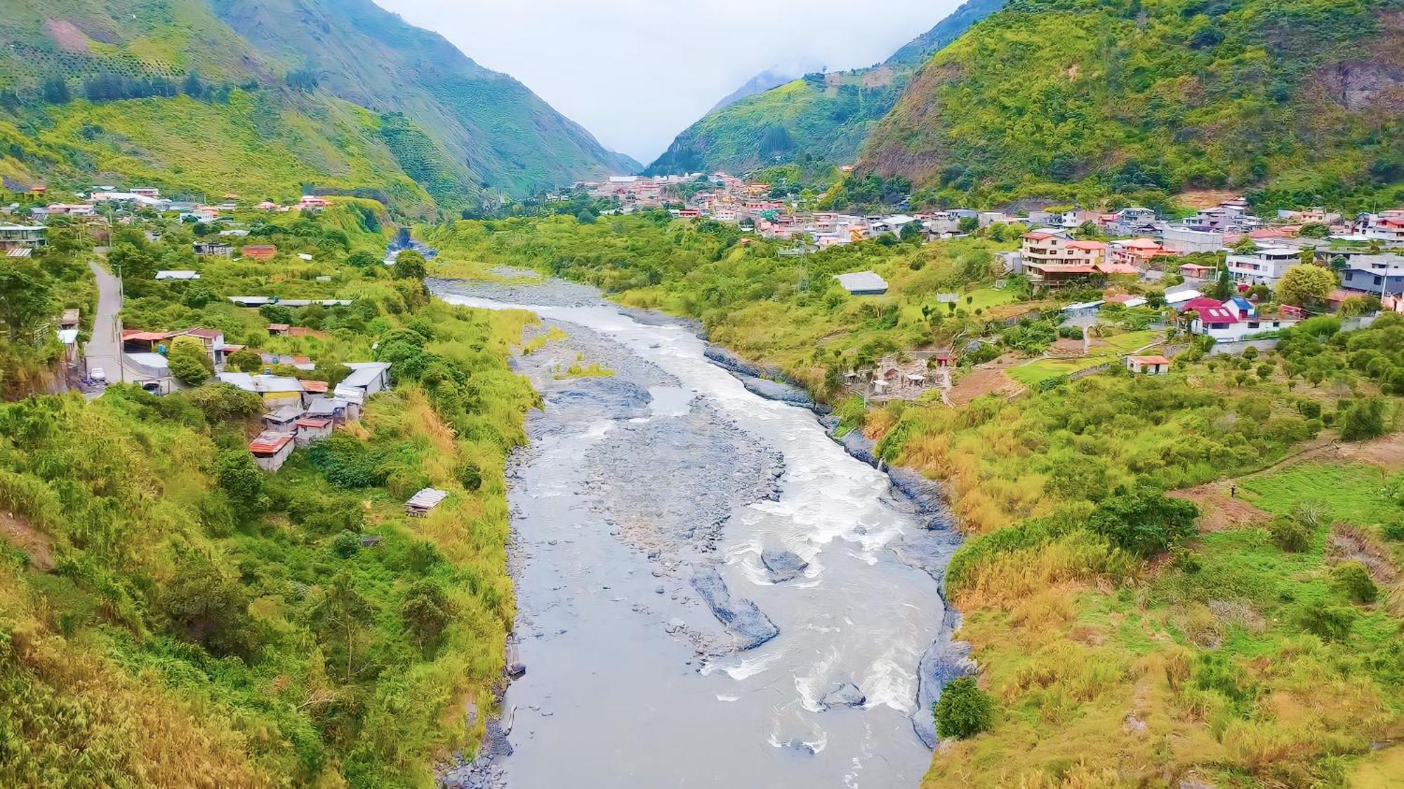
[[[1049,320],[1002,320],[1039,302],[1018,282],[991,286],[1001,244],[990,239],[781,257],[772,243],[664,213],[424,234],[442,250],[431,272],[511,263],[592,282],[623,303],[701,319],[713,338],[828,397],[840,394],[835,371],[886,352],[987,337],[990,352],[1024,355],[1057,336]],[[852,298],[830,278],[861,268],[889,293]],[[969,299],[932,309],[942,291]],[[1122,314],[1106,331],[1143,330],[1143,317]],[[1401,348],[1397,316],[1349,333],[1318,317],[1251,359],[1192,345],[1165,378],[1113,366],[963,407],[929,396],[835,403],[882,458],[945,480],[967,533],[948,594],[979,688],[948,703],[943,731],[969,737],[938,752],[927,783],[1397,778],[1397,748],[1373,750],[1404,726],[1397,442],[1353,465],[1313,458],[1337,435],[1394,430]],[[1337,482],[1304,484],[1320,473]],[[1230,477],[1241,480],[1220,487]]]

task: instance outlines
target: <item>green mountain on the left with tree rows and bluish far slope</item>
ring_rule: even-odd
[[[0,175],[431,215],[639,164],[369,0],[0,0]]]

